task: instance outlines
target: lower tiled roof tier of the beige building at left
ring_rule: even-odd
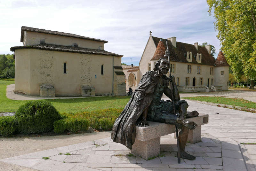
[[[48,51],[64,51],[64,52],[75,52],[75,53],[86,53],[86,54],[95,54],[95,55],[110,55],[110,56],[118,56],[123,57],[123,55],[118,55],[116,53],[98,50],[98,49],[87,49],[87,48],[79,48],[73,46],[62,46],[55,44],[38,44],[32,46],[13,46],[11,47],[11,51],[15,51],[16,49],[41,49]]]

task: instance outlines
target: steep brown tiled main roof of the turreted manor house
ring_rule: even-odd
[[[158,43],[161,38],[152,36],[153,41],[156,46],[158,46]],[[164,43],[164,47],[166,49],[166,39],[162,39]],[[198,64],[198,65],[211,65],[215,66],[215,59],[212,57],[211,54],[208,53],[205,47],[198,46],[198,50],[196,49],[194,44],[188,44],[188,43],[182,43],[182,42],[176,42],[176,47],[172,45],[172,42],[170,40],[167,40],[168,47],[170,51],[170,60],[173,62],[184,62],[184,63],[192,63],[192,64]],[[187,61],[187,57],[184,56],[187,52],[192,52],[192,62]],[[194,58],[194,55],[197,53],[202,53],[202,63],[197,63],[196,58]],[[163,56],[164,57],[164,56]],[[151,59],[152,60],[152,59]]]

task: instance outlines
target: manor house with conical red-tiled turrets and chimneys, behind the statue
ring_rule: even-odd
[[[167,42],[171,54],[171,74],[175,76],[179,91],[228,90],[229,65],[222,51],[215,60],[210,45],[202,47],[198,43],[176,42],[176,37],[168,38]],[[136,89],[141,76],[153,70],[156,61],[164,57],[166,49],[166,39],[154,37],[150,32],[139,66],[122,66],[126,90],[129,87]]]

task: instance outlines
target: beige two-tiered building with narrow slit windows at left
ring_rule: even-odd
[[[123,55],[104,50],[105,40],[21,27],[15,56],[14,92],[27,95],[125,95]]]

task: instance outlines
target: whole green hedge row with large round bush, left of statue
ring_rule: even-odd
[[[54,131],[63,133],[94,129],[111,130],[122,109],[103,109],[92,112],[59,114],[47,101],[30,101],[21,105],[15,116],[0,117],[0,136],[14,133],[31,134]]]

